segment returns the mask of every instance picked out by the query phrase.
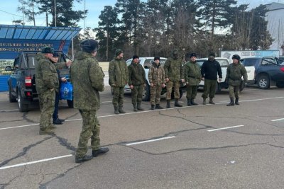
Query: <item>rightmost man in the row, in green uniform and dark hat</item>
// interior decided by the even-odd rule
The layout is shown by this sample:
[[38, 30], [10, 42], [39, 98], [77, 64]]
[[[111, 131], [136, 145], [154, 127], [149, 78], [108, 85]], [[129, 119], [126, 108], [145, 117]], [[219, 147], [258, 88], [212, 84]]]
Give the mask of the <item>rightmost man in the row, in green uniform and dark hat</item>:
[[[241, 84], [241, 77], [244, 77], [244, 83], [248, 80], [245, 67], [239, 62], [241, 57], [233, 55], [231, 57], [233, 63], [226, 69], [226, 84], [229, 84], [230, 103], [227, 106], [239, 105], [239, 86]], [[236, 101], [234, 102], [234, 97]]]

